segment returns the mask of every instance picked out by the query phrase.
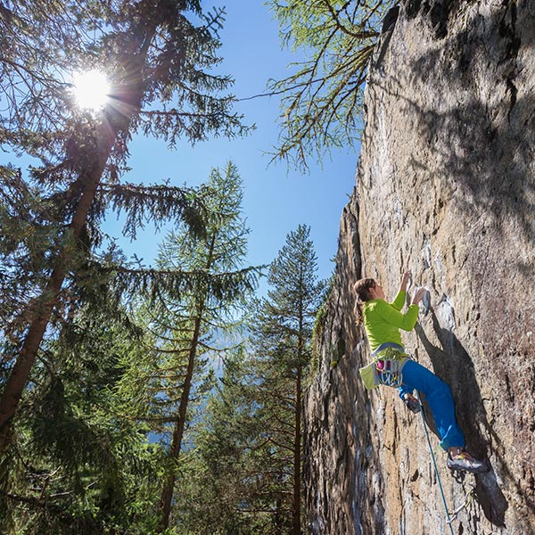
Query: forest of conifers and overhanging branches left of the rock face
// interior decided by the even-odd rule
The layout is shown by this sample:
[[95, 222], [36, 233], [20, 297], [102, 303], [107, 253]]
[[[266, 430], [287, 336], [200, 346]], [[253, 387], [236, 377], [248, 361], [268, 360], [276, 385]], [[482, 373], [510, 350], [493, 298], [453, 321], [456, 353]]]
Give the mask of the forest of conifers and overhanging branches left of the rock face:
[[[310, 52], [267, 89], [284, 95], [275, 158], [307, 169], [358, 139], [392, 3], [268, 4], [281, 45]], [[250, 266], [232, 161], [200, 186], [124, 179], [136, 134], [247, 136], [214, 71], [224, 19], [197, 0], [0, 1], [3, 533], [307, 531], [302, 396], [329, 292], [309, 226]], [[106, 98], [72, 72], [105, 74]], [[133, 243], [170, 225], [153, 265], [111, 215]]]

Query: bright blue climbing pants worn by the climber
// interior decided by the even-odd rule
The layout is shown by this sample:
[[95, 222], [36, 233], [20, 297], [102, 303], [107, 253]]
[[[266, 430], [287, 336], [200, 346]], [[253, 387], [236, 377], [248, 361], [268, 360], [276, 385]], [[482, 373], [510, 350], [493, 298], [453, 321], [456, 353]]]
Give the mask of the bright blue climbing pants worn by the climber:
[[424, 394], [431, 409], [442, 449], [463, 448], [465, 436], [455, 419], [455, 406], [449, 385], [414, 360], [407, 360], [402, 368], [403, 383], [399, 387], [399, 397], [418, 391]]

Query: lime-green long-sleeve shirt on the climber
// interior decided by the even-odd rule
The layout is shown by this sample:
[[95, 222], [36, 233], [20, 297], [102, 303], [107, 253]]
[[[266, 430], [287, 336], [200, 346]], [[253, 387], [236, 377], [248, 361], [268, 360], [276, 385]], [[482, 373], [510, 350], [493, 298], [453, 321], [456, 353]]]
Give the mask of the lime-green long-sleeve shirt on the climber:
[[407, 292], [399, 292], [392, 303], [382, 299], [374, 299], [366, 302], [364, 307], [364, 326], [368, 342], [372, 351], [376, 350], [384, 342], [393, 342], [402, 345], [401, 333], [412, 331], [418, 319], [418, 305], [410, 305], [405, 314], [401, 313], [405, 305]]

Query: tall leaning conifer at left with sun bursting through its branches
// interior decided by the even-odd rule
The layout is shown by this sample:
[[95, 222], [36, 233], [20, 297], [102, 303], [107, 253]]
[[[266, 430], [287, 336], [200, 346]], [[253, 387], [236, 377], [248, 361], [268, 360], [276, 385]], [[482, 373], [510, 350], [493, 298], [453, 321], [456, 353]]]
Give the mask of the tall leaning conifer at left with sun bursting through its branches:
[[[107, 210], [127, 213], [125, 234], [146, 222], [185, 219], [202, 235], [202, 205], [191, 190], [121, 184], [136, 132], [169, 144], [185, 136], [241, 135], [230, 78], [217, 65], [223, 12], [197, 0], [113, 3], [21, 0], [0, 5], [0, 143], [37, 159], [29, 179], [0, 169], [5, 261], [0, 280], [8, 350], [0, 398], [0, 455], [45, 338], [57, 336], [84, 284], [95, 277], [117, 292], [134, 286], [183, 287], [202, 273], [157, 273], [117, 262], [103, 245]], [[67, 81], [97, 68], [111, 78], [111, 103], [77, 110]], [[158, 107], [160, 104], [160, 107]]]

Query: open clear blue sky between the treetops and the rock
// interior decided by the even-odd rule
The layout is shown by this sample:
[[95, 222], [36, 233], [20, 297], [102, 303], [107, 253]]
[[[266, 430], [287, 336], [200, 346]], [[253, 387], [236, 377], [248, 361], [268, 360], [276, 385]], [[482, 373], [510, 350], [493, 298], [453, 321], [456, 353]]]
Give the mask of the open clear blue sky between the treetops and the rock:
[[[235, 78], [232, 92], [236, 97], [265, 93], [269, 78], [284, 78], [291, 72], [287, 65], [298, 58], [281, 50], [277, 22], [266, 5], [259, 0], [216, 0], [203, 5], [204, 9], [226, 6], [226, 23], [219, 34], [224, 61], [218, 71]], [[126, 179], [145, 184], [169, 179], [172, 185], [193, 186], [205, 181], [210, 169], [234, 161], [243, 178], [243, 212], [251, 228], [248, 262], [270, 263], [286, 235], [305, 224], [311, 227], [318, 275], [330, 276], [342, 209], [354, 185], [356, 150], [333, 152], [332, 161], [327, 158], [323, 169], [312, 165], [308, 175], [287, 169], [284, 162], [269, 165], [266, 152], [276, 145], [278, 136], [278, 97], [246, 100], [238, 103], [236, 111], [243, 113], [246, 124], [257, 126], [243, 139], [219, 138], [193, 148], [179, 144], [169, 151], [164, 142], [136, 137], [130, 144], [132, 171]], [[114, 235], [119, 232], [114, 231]], [[136, 253], [150, 263], [163, 236], [148, 230], [136, 243], [119, 243], [128, 255]]]

